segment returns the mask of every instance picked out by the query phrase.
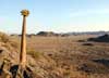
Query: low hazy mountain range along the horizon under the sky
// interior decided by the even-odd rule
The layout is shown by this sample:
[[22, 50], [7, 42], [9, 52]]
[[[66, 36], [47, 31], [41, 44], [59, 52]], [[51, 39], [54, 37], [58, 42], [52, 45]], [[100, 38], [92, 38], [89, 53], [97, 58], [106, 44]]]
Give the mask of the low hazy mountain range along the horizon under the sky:
[[[52, 37], [52, 36], [60, 36], [60, 37], [66, 37], [66, 36], [77, 36], [77, 35], [97, 35], [97, 36], [101, 36], [101, 35], [106, 35], [109, 34], [109, 31], [82, 31], [82, 32], [53, 32], [53, 31], [39, 31], [37, 34], [27, 34], [27, 37], [32, 37], [32, 36], [45, 36], [45, 37]], [[21, 35], [16, 35], [16, 34], [12, 34], [11, 36], [20, 36]]]

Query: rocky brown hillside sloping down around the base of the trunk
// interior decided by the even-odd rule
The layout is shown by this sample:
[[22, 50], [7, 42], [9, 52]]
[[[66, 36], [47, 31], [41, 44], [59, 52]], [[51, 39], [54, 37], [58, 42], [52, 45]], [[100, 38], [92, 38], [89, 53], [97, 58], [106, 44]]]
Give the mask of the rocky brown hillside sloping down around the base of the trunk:
[[[33, 56], [34, 55], [34, 56]], [[19, 47], [5, 34], [0, 32], [0, 78], [15, 78], [19, 66]], [[35, 60], [37, 57], [37, 60]], [[27, 55], [27, 73], [24, 78], [45, 78], [49, 77], [49, 68], [53, 67], [55, 62], [48, 56], [29, 51]], [[52, 74], [52, 73], [51, 73]], [[53, 75], [53, 74], [52, 74]]]

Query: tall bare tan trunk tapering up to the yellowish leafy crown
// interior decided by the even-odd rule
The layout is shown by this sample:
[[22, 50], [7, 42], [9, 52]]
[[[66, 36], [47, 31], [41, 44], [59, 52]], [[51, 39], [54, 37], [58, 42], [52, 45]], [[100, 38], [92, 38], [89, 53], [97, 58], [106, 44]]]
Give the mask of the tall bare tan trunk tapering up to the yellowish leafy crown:
[[17, 74], [21, 75], [21, 78], [23, 78], [25, 68], [26, 68], [26, 16], [24, 15], [23, 16], [22, 39], [21, 39], [20, 65], [17, 69]]

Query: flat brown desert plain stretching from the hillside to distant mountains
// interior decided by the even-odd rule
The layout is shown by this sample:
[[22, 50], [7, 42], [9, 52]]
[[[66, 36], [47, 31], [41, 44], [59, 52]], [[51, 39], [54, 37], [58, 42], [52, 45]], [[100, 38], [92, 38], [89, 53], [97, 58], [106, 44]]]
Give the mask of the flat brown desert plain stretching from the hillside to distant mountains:
[[27, 54], [47, 72], [39, 78], [109, 78], [109, 43], [86, 41], [92, 37], [27, 37]]

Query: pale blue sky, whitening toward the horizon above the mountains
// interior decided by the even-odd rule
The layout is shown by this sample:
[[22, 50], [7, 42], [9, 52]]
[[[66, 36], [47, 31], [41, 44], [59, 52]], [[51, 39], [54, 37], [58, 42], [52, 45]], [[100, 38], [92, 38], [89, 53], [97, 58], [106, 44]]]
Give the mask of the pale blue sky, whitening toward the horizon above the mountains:
[[0, 31], [21, 34], [27, 9], [27, 34], [109, 30], [109, 0], [0, 0]]

